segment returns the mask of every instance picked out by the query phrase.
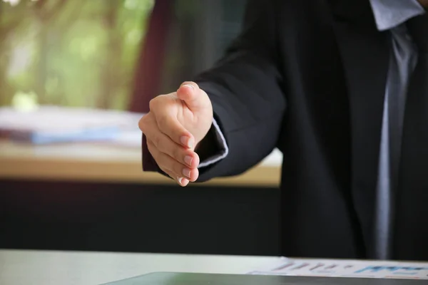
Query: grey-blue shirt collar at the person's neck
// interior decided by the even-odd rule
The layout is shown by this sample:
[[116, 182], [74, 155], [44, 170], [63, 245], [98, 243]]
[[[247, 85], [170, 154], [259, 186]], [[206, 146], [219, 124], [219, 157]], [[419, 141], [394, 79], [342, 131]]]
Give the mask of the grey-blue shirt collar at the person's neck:
[[395, 28], [414, 16], [425, 13], [424, 7], [417, 0], [370, 0], [370, 4], [379, 31]]

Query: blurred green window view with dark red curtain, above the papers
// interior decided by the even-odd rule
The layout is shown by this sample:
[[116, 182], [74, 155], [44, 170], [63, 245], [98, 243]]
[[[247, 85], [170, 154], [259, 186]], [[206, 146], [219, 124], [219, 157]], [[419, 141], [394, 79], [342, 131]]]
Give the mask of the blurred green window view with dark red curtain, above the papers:
[[141, 110], [208, 68], [245, 0], [0, 0], [0, 103]]

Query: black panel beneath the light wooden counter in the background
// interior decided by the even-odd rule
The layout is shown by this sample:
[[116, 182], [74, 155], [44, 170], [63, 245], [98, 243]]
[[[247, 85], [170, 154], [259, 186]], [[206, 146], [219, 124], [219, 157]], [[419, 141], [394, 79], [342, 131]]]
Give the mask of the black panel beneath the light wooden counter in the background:
[[279, 190], [0, 180], [0, 247], [279, 254]]

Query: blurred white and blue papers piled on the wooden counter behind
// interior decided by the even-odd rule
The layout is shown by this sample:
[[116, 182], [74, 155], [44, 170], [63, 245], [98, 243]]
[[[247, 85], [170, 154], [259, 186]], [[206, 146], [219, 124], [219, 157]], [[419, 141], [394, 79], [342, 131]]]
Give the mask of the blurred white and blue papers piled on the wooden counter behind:
[[116, 110], [44, 106], [28, 112], [0, 108], [0, 134], [11, 140], [49, 142], [116, 140], [138, 134], [143, 114]]

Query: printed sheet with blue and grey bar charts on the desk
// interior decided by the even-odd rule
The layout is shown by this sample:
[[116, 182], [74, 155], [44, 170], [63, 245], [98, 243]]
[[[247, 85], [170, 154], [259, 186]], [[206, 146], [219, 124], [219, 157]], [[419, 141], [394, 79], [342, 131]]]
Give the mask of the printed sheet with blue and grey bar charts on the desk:
[[428, 279], [428, 262], [281, 258], [248, 274]]

